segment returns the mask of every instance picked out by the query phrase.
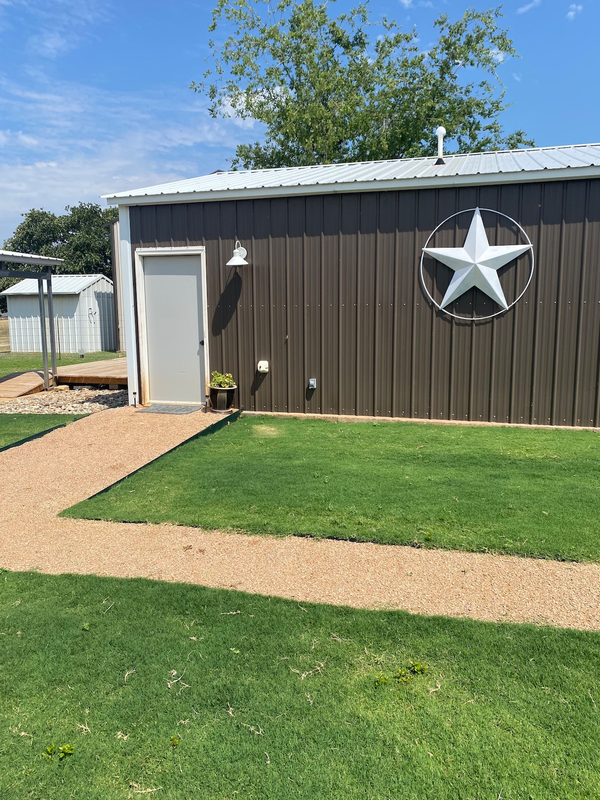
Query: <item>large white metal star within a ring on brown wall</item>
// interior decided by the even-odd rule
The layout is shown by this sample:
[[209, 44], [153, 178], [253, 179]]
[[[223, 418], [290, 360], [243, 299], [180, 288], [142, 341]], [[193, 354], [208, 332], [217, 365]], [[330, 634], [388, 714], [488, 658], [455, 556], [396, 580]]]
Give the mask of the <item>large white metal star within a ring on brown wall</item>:
[[[522, 295], [525, 294], [527, 286], [529, 286], [531, 277], [534, 272], [534, 258], [533, 258], [533, 248], [531, 246], [531, 242], [525, 231], [522, 229], [518, 222], [515, 222], [514, 219], [507, 217], [506, 214], [502, 214], [500, 211], [494, 211], [494, 214], [499, 214], [501, 217], [505, 217], [513, 222], [515, 226], [517, 226], [518, 230], [521, 231], [523, 238], [525, 238], [527, 244], [524, 245], [502, 245], [502, 246], [492, 246], [490, 242], [488, 242], [486, 229], [483, 226], [482, 215], [478, 208], [475, 209], [468, 209], [470, 211], [474, 211], [473, 219], [471, 220], [471, 224], [469, 227], [469, 232], [466, 234], [465, 244], [462, 247], [428, 247], [431, 238], [433, 238], [435, 232], [445, 223], [448, 219], [457, 216], [457, 214], [452, 214], [448, 219], [445, 219], [444, 222], [441, 222], [440, 225], [433, 231], [430, 238], [426, 242], [426, 246], [423, 247], [423, 254], [427, 254], [433, 256], [433, 258], [437, 258], [439, 262], [442, 264], [446, 264], [446, 266], [450, 267], [450, 270], [454, 270], [454, 275], [452, 276], [452, 280], [450, 281], [450, 286], [448, 286], [446, 290], [446, 294], [442, 299], [441, 303], [437, 303], [434, 301], [434, 298], [431, 297], [430, 292], [427, 290], [425, 282], [423, 280], [423, 254], [421, 256], [421, 280], [423, 288], [426, 291], [426, 294], [430, 298], [431, 302], [434, 303], [434, 306], [437, 306], [440, 310], [446, 310], [446, 307], [450, 305], [450, 303], [454, 302], [454, 300], [458, 299], [462, 294], [466, 291], [477, 288], [485, 292], [488, 297], [492, 298], [495, 302], [498, 303], [500, 306], [499, 311], [495, 314], [490, 314], [487, 317], [475, 317], [475, 319], [489, 319], [490, 317], [495, 317], [497, 314], [502, 314], [502, 311], [508, 310], [511, 306], [514, 306], [514, 303], [517, 302]], [[491, 209], [483, 209], [484, 211], [491, 211]], [[459, 214], [463, 214], [464, 212], [458, 212]], [[514, 261], [515, 258], [518, 256], [530, 251], [531, 257], [531, 270], [530, 270], [530, 277], [527, 281], [527, 286], [519, 294], [518, 298], [514, 300], [509, 306], [506, 302], [506, 297], [504, 296], [504, 292], [502, 290], [502, 286], [500, 285], [500, 281], [498, 279], [498, 270], [500, 267], [509, 264], [511, 261]], [[449, 311], [446, 310], [446, 314], [450, 314]], [[471, 317], [459, 317], [458, 314], [450, 314], [452, 317], [456, 317], [459, 319], [472, 319]]]

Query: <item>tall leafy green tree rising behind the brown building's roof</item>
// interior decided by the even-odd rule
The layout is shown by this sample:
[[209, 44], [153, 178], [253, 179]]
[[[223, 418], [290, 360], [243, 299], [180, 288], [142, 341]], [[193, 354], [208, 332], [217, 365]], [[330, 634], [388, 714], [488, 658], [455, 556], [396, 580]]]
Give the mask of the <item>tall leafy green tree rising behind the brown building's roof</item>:
[[228, 35], [210, 41], [210, 66], [190, 88], [206, 94], [214, 118], [265, 126], [263, 142], [238, 145], [234, 167], [433, 155], [438, 125], [460, 153], [534, 144], [500, 122], [508, 104], [498, 69], [518, 57], [501, 6], [457, 22], [441, 14], [437, 42], [423, 50], [416, 29], [372, 24], [368, 3], [337, 18], [330, 5], [218, 0], [210, 31]]

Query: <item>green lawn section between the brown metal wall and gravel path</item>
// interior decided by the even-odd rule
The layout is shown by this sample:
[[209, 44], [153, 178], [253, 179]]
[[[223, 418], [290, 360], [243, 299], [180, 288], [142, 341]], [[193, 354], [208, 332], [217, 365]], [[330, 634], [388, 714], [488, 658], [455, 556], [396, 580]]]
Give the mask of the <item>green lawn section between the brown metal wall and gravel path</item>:
[[243, 418], [63, 512], [600, 559], [590, 431]]

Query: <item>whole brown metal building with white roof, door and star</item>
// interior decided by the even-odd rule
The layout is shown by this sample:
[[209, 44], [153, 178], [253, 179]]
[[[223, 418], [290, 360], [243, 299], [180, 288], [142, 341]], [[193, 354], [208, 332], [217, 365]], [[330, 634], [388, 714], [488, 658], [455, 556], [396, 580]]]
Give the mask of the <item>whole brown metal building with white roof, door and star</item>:
[[204, 402], [216, 369], [247, 410], [600, 425], [600, 145], [107, 199], [132, 403]]

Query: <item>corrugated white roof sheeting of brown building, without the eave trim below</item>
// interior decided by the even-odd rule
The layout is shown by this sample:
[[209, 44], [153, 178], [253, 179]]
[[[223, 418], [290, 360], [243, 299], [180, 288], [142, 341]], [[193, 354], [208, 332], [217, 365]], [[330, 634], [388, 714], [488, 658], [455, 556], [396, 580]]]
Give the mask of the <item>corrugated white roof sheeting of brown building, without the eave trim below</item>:
[[[319, 164], [316, 166], [291, 166], [270, 170], [239, 170], [202, 175], [184, 181], [146, 186], [106, 198], [118, 202], [125, 198], [164, 197], [177, 194], [195, 194], [198, 199], [210, 199], [210, 194], [238, 190], [282, 190], [296, 186], [343, 186], [360, 182], [410, 180], [415, 178], [444, 178], [451, 176], [477, 176], [494, 174], [520, 174], [538, 170], [566, 170], [572, 167], [600, 166], [600, 144], [570, 145], [562, 147], [537, 147], [525, 150], [506, 150], [494, 153], [467, 153], [446, 155], [445, 164], [436, 166], [436, 158], [399, 158], [390, 161], [358, 162], [351, 164]], [[557, 174], [557, 179], [560, 176]], [[402, 188], [401, 184], [398, 188]], [[337, 190], [337, 189], [336, 189]]]

